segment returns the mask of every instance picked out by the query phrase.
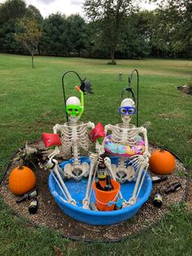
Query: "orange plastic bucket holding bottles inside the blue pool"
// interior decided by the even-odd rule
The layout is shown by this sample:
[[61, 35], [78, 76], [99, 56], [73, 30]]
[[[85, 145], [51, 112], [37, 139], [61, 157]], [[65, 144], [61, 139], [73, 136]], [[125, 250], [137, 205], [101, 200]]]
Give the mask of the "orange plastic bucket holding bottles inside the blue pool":
[[95, 199], [96, 199], [96, 205], [98, 207], [98, 210], [114, 210], [115, 204], [108, 206], [108, 203], [110, 201], [116, 201], [116, 196], [118, 192], [120, 191], [120, 183], [118, 183], [116, 180], [111, 179], [111, 183], [113, 186], [112, 191], [103, 191], [98, 188], [96, 188], [96, 183], [94, 182], [93, 188], [95, 193]]

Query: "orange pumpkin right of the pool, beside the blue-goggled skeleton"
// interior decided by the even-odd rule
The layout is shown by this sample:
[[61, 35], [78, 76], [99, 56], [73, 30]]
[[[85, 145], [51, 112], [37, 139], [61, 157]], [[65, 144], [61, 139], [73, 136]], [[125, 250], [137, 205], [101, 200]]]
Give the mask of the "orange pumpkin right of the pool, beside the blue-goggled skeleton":
[[152, 152], [149, 162], [150, 169], [155, 174], [167, 175], [175, 169], [175, 157], [164, 149], [156, 149]]

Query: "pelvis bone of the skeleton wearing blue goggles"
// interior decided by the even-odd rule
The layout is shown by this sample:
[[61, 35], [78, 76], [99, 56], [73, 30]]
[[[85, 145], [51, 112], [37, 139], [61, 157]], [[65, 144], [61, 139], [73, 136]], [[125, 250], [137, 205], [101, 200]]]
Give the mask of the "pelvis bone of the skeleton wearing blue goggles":
[[111, 168], [114, 171], [114, 174], [116, 174], [116, 180], [120, 183], [135, 179], [136, 173], [133, 166], [124, 167], [111, 165]]

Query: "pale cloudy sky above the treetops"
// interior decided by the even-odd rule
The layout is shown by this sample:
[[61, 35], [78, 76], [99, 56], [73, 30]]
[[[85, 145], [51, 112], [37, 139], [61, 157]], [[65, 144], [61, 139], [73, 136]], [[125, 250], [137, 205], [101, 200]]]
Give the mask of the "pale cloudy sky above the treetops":
[[[0, 3], [1, 2], [6, 2], [6, 0], [0, 0]], [[84, 16], [82, 10], [82, 3], [84, 0], [25, 0], [25, 2], [27, 5], [32, 4], [34, 7], [37, 7], [44, 18], [58, 11], [65, 15], [79, 13]], [[155, 9], [155, 4], [146, 4], [143, 0], [141, 7], [142, 9], [153, 10]]]

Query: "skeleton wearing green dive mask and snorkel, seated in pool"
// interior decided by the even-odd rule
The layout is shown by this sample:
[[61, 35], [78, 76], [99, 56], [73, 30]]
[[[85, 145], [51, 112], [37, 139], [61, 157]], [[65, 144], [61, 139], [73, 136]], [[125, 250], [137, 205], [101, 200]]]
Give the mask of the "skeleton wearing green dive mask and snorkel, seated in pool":
[[66, 101], [66, 112], [68, 113], [69, 122], [63, 125], [56, 124], [53, 127], [54, 133], [59, 132], [61, 135], [63, 155], [67, 156], [72, 153], [72, 164], [66, 164], [63, 170], [61, 170], [58, 162], [54, 159], [55, 155], [59, 154], [58, 146], [56, 146], [54, 152], [50, 154], [48, 157], [49, 161], [46, 164], [46, 168], [54, 168], [56, 175], [53, 175], [53, 177], [56, 183], [60, 183], [59, 188], [62, 188], [63, 195], [66, 197], [67, 201], [73, 205], [76, 205], [76, 201], [72, 199], [72, 196], [68, 192], [68, 188], [63, 182], [63, 177], [80, 180], [82, 177], [86, 177], [89, 174], [89, 164], [86, 161], [80, 161], [79, 148], [88, 151], [88, 130], [89, 128], [94, 128], [94, 123], [90, 121], [88, 123], [78, 122], [84, 110], [84, 94], [78, 86], [76, 86], [76, 90], [81, 92], [81, 102], [80, 99], [75, 96], [69, 97]]

